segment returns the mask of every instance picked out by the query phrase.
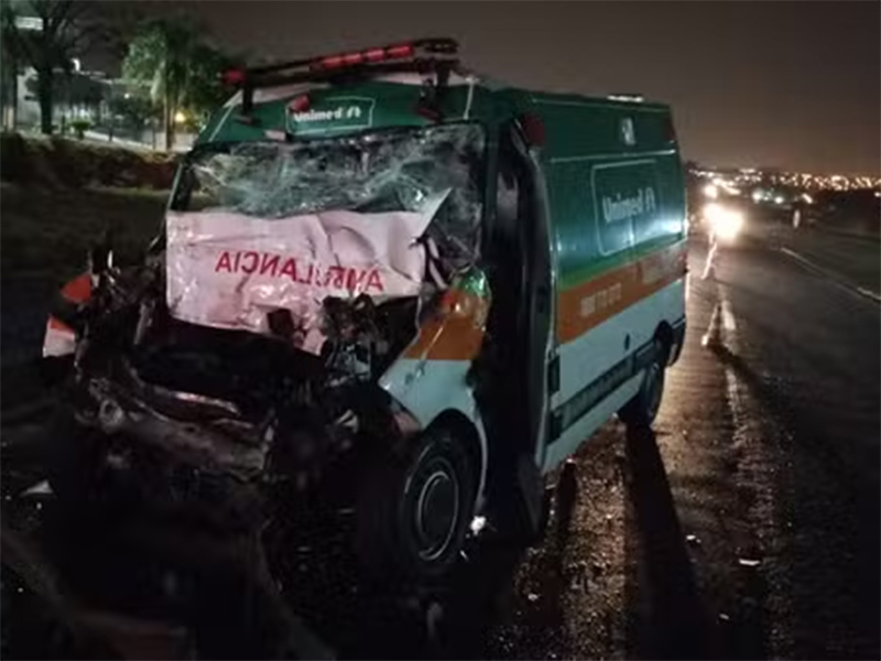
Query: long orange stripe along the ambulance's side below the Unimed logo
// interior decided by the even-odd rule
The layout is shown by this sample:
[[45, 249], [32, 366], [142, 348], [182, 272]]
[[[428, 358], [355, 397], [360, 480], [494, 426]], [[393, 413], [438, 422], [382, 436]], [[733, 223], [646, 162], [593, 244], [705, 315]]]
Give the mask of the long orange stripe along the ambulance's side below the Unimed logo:
[[639, 261], [607, 271], [557, 296], [557, 340], [572, 342], [590, 328], [685, 275], [682, 241]]

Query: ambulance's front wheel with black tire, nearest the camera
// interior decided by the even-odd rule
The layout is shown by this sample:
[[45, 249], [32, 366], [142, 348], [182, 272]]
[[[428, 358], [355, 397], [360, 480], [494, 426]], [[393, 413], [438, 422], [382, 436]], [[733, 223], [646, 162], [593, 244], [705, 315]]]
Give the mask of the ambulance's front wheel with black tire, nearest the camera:
[[477, 467], [444, 426], [373, 457], [356, 506], [356, 553], [373, 577], [428, 581], [456, 564], [474, 517]]

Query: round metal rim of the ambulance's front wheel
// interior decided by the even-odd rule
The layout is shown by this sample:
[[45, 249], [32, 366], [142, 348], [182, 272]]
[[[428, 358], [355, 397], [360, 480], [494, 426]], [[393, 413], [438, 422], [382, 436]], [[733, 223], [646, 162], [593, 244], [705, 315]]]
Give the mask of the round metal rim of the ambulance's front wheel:
[[452, 464], [437, 457], [420, 472], [427, 477], [418, 483], [413, 510], [418, 556], [434, 561], [449, 549], [459, 523], [460, 485]]

